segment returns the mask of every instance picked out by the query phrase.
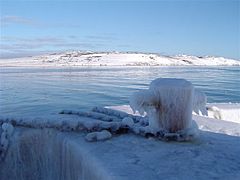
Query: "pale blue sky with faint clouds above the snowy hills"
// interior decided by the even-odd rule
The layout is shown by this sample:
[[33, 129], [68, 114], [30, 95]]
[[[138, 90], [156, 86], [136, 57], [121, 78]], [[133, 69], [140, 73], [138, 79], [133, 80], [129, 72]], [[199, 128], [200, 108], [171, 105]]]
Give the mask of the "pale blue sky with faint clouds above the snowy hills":
[[0, 0], [0, 56], [64, 50], [240, 59], [240, 1]]

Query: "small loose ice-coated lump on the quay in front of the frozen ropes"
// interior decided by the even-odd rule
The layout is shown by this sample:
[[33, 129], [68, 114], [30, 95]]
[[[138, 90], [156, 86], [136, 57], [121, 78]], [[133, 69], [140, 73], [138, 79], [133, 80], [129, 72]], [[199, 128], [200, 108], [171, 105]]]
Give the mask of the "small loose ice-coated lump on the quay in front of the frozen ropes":
[[107, 139], [110, 139], [111, 137], [112, 137], [112, 134], [109, 131], [103, 130], [100, 132], [88, 133], [85, 139], [89, 142], [92, 142], [92, 141], [107, 140]]

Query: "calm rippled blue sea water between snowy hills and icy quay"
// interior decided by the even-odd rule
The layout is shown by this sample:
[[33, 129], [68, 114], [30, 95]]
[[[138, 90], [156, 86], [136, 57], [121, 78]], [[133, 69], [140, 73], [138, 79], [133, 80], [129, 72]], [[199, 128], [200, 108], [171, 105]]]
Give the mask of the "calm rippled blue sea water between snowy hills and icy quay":
[[208, 102], [240, 102], [239, 67], [1, 68], [0, 113], [41, 116], [127, 104], [159, 77], [191, 81]]

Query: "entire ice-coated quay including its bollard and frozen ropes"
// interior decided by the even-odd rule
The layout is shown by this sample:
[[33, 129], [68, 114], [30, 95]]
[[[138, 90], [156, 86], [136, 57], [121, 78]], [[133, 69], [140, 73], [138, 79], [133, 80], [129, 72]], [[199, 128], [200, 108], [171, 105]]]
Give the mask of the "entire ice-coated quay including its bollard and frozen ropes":
[[[123, 105], [43, 118], [0, 117], [0, 179], [238, 180], [240, 119], [228, 113], [238, 114], [239, 106], [208, 104], [210, 118], [203, 116], [205, 103], [191, 83], [157, 79], [131, 100], [134, 110], [148, 116]], [[185, 130], [196, 127], [199, 136], [178, 142], [195, 135]]]

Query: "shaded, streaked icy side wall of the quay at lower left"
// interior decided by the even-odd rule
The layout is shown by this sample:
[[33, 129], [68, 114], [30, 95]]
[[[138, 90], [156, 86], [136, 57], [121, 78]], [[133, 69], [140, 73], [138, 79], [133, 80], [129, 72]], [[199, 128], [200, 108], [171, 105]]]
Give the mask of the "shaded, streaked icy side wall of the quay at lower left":
[[73, 137], [53, 129], [17, 128], [0, 162], [0, 179], [112, 179], [89, 149], [79, 145], [81, 135], [79, 140]]

